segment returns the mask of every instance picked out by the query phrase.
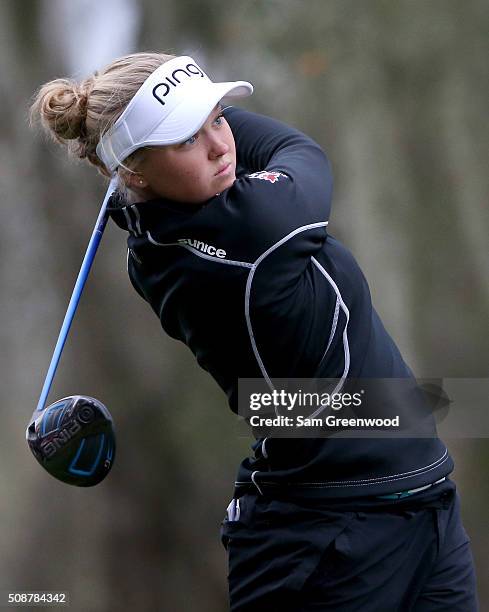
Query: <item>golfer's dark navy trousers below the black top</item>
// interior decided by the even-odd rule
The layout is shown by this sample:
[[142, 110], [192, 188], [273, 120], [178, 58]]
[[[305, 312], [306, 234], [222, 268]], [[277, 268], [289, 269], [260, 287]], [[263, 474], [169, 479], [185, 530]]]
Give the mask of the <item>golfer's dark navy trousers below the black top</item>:
[[421, 507], [409, 500], [362, 511], [246, 494], [239, 519], [226, 518], [221, 529], [230, 610], [476, 612], [470, 542], [452, 486]]

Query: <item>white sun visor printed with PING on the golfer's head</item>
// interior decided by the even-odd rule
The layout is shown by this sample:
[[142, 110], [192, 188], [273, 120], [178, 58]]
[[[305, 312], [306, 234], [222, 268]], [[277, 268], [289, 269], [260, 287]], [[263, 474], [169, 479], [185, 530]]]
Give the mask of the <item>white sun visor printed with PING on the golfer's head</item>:
[[191, 57], [176, 57], [144, 81], [100, 139], [97, 155], [114, 172], [136, 149], [185, 142], [200, 130], [222, 98], [252, 93], [251, 83], [213, 83]]

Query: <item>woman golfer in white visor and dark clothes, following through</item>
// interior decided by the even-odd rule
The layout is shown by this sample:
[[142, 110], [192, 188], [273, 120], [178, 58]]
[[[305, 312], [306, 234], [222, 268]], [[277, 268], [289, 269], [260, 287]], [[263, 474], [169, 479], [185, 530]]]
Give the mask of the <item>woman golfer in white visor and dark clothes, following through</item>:
[[[255, 389], [256, 414], [272, 402], [278, 417], [291, 405], [276, 379], [333, 379], [336, 396], [353, 379], [412, 381], [328, 231], [325, 154], [283, 123], [223, 107], [251, 93], [212, 82], [191, 57], [137, 53], [82, 83], [47, 83], [32, 112], [78, 157], [118, 173], [109, 210], [129, 234], [131, 282], [232, 410], [238, 379], [261, 379], [269, 393]], [[231, 610], [477, 609], [453, 461], [434, 430], [268, 431], [253, 451], [222, 525]]]

